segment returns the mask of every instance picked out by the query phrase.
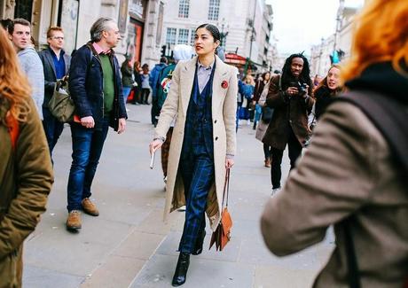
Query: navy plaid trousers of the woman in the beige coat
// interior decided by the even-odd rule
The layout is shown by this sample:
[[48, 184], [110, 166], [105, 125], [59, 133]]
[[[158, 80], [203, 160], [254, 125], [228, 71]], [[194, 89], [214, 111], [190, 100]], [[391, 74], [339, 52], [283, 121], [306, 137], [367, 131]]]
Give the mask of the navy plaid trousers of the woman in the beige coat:
[[180, 162], [186, 200], [183, 236], [178, 246], [182, 253], [192, 253], [206, 227], [207, 196], [215, 175], [214, 160], [209, 157], [205, 144], [195, 148], [190, 157]]

